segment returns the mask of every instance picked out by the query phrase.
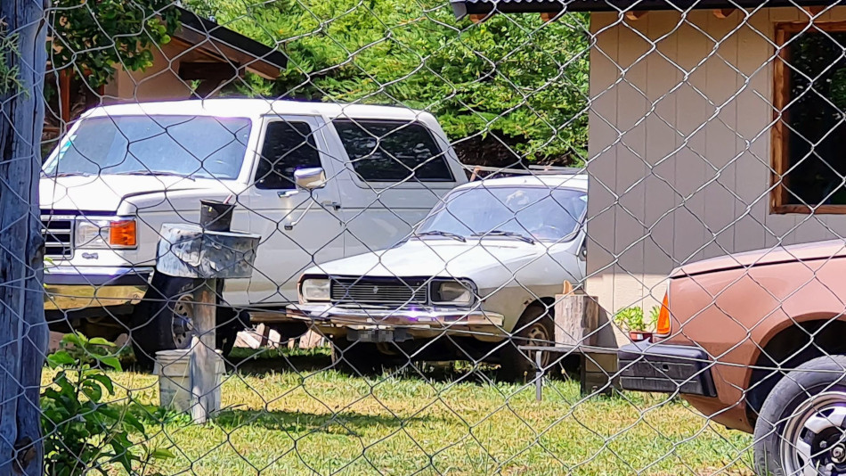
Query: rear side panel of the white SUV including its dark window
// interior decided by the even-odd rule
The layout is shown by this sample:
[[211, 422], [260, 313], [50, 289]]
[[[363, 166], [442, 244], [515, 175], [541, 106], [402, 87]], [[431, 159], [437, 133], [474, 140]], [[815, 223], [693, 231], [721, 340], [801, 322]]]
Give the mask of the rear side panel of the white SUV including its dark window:
[[[418, 121], [336, 119], [330, 143], [346, 154], [338, 171], [346, 256], [402, 240], [443, 195], [467, 182], [442, 135]], [[433, 125], [436, 127], [436, 124]]]

